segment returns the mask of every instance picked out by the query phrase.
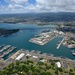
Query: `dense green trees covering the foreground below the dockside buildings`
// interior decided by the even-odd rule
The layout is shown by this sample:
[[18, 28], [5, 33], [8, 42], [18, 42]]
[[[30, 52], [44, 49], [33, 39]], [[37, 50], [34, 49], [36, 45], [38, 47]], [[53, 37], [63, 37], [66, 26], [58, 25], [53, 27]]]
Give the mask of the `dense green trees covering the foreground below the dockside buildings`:
[[[41, 58], [42, 59], [42, 58]], [[75, 75], [75, 70], [71, 68], [69, 72], [63, 68], [58, 68], [54, 60], [47, 62], [16, 61], [0, 71], [0, 75], [58, 75], [58, 73], [69, 73]]]

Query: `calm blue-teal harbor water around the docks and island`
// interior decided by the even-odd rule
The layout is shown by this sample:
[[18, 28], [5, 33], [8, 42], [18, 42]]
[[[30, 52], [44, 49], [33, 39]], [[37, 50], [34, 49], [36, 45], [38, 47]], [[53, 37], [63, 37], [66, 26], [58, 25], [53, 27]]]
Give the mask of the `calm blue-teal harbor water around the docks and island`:
[[[10, 44], [12, 46], [16, 46], [17, 49], [14, 51], [24, 48], [28, 50], [40, 50], [41, 52], [52, 53], [54, 56], [65, 56], [70, 59], [75, 59], [75, 57], [71, 54], [72, 49], [68, 49], [64, 46], [61, 46], [58, 50], [56, 49], [56, 44], [61, 38], [57, 37], [54, 40], [48, 42], [44, 46], [40, 46], [34, 43], [30, 43], [29, 39], [34, 37], [34, 35], [39, 34], [42, 30], [45, 29], [54, 29], [54, 25], [47, 25], [47, 26], [37, 26], [31, 24], [0, 24], [0, 28], [6, 29], [21, 29], [19, 32], [12, 34], [8, 37], [0, 37], [0, 44]], [[5, 59], [8, 56], [5, 57]]]

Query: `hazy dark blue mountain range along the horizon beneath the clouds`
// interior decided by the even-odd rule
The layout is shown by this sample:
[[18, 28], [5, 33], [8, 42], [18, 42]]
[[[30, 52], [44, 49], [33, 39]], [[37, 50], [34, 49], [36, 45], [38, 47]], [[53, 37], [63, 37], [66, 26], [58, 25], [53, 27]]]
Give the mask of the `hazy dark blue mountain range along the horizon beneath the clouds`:
[[2, 14], [0, 21], [7, 18], [16, 18], [20, 21], [40, 20], [42, 22], [62, 22], [75, 21], [75, 13], [58, 12], [58, 13], [27, 13], [27, 14]]

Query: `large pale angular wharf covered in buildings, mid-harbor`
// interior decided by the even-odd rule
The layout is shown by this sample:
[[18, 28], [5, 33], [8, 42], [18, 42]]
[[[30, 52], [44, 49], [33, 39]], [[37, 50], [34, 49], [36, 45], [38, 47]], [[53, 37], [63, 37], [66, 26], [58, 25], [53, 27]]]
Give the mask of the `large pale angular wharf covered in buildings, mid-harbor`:
[[48, 43], [49, 41], [53, 40], [54, 38], [56, 38], [58, 35], [56, 35], [53, 32], [49, 32], [49, 33], [42, 33], [39, 34], [39, 37], [34, 37], [31, 38], [29, 40], [29, 42], [38, 44], [38, 45], [45, 45], [46, 43]]

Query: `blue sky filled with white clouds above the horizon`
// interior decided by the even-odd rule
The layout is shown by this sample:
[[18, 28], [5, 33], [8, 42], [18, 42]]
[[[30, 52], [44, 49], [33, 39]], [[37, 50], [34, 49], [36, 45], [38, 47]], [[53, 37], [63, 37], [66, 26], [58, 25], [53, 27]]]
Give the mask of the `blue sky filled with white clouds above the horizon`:
[[0, 0], [0, 14], [75, 12], [75, 0]]

